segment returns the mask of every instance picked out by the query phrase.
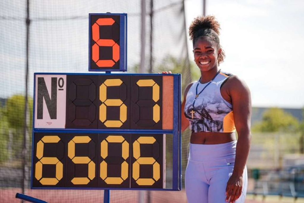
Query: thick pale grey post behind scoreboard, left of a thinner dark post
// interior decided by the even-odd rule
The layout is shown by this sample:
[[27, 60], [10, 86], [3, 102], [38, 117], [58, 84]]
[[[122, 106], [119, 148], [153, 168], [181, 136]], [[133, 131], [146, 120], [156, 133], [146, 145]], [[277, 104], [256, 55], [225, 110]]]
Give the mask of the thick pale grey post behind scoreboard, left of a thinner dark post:
[[146, 48], [146, 0], [141, 0], [141, 29], [140, 29], [140, 67], [139, 72], [146, 72], [145, 69], [145, 48]]

